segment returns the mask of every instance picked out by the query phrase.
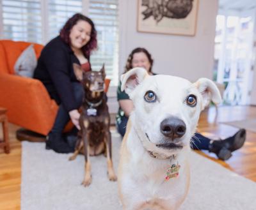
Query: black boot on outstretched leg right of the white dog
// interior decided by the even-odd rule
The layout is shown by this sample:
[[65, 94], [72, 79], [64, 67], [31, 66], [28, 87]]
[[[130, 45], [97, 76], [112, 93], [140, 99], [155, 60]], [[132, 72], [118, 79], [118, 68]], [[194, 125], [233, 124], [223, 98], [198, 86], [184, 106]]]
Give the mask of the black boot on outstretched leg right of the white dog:
[[240, 129], [232, 137], [224, 140], [212, 140], [209, 144], [209, 152], [217, 154], [221, 160], [228, 160], [232, 152], [240, 149], [246, 138], [246, 130]]

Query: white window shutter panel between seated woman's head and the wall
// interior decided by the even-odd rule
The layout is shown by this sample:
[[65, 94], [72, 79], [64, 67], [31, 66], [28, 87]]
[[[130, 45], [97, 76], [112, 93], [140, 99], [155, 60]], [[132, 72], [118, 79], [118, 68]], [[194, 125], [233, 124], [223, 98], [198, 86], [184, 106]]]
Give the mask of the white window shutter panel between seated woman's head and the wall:
[[118, 0], [90, 0], [88, 16], [97, 29], [98, 50], [90, 61], [93, 70], [105, 64], [111, 86], [118, 84]]

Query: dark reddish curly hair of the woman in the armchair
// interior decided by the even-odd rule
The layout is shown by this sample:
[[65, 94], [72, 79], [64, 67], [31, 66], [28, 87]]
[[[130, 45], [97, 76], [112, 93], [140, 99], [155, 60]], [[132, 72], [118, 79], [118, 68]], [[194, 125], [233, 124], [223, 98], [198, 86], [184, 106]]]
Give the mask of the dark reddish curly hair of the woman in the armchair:
[[88, 41], [88, 43], [86, 43], [86, 45], [84, 45], [81, 49], [84, 56], [88, 58], [90, 57], [90, 53], [92, 52], [92, 50], [97, 49], [97, 31], [91, 19], [80, 13], [76, 13], [75, 15], [70, 17], [70, 19], [68, 19], [65, 25], [62, 27], [62, 29], [60, 30], [60, 37], [63, 41], [65, 41], [65, 43], [70, 45], [70, 31], [79, 20], [85, 20], [86, 22], [88, 22], [88, 24], [92, 26], [90, 41]]

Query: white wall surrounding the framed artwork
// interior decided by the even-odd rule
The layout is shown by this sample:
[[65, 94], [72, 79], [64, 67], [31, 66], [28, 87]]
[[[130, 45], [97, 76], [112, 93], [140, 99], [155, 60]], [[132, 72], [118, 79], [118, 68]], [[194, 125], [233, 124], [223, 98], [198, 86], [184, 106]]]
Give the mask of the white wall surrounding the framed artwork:
[[137, 1], [123, 0], [120, 10], [120, 73], [135, 47], [145, 47], [154, 58], [153, 71], [196, 80], [212, 79], [218, 0], [200, 0], [195, 36], [139, 33]]

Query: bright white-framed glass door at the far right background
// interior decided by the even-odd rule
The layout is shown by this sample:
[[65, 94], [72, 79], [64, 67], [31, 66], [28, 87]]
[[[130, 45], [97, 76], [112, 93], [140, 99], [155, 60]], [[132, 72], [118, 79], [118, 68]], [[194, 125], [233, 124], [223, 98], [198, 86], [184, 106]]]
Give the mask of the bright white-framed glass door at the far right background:
[[225, 84], [223, 103], [246, 105], [250, 101], [255, 12], [218, 15], [214, 51], [214, 76]]

